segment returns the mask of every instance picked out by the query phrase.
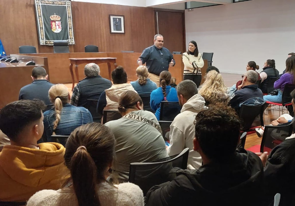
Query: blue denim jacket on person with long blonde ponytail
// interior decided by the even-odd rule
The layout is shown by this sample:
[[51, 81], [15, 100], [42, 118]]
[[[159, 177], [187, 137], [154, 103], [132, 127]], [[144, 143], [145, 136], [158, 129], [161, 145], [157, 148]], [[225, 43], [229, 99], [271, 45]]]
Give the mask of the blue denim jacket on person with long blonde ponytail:
[[[53, 133], [53, 122], [55, 121], [55, 109], [50, 109], [44, 112], [44, 136], [47, 137], [47, 142], [51, 142], [51, 135]], [[76, 107], [71, 104], [63, 105], [60, 113], [60, 122], [56, 128], [55, 134], [57, 135], [70, 135], [74, 129], [93, 122], [92, 116], [88, 109], [84, 107]], [[63, 144], [64, 142], [60, 142]]]

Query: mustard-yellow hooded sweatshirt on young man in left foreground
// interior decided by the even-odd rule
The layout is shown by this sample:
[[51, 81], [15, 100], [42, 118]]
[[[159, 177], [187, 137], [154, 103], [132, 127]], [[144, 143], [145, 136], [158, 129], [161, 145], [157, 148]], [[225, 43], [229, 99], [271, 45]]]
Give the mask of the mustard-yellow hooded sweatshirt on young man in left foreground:
[[0, 152], [0, 201], [26, 202], [40, 190], [61, 188], [69, 177], [63, 145], [50, 142], [38, 147], [4, 146]]

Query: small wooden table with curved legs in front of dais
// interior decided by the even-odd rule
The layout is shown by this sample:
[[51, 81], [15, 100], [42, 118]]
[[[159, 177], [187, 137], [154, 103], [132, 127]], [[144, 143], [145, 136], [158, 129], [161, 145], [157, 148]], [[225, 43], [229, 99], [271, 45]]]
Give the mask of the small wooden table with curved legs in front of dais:
[[108, 70], [109, 70], [109, 80], [112, 79], [111, 77], [111, 63], [114, 64], [115, 68], [117, 67], [116, 64], [116, 59], [113, 57], [101, 57], [101, 58], [69, 58], [70, 59], [70, 72], [72, 76], [72, 91], [75, 86], [75, 77], [73, 73], [73, 64], [76, 65], [75, 67], [75, 73], [76, 73], [76, 78], [77, 78], [77, 83], [79, 83], [79, 73], [78, 73], [78, 65], [79, 64], [89, 64], [89, 63], [94, 63], [94, 64], [101, 64], [101, 63], [107, 63], [108, 64]]

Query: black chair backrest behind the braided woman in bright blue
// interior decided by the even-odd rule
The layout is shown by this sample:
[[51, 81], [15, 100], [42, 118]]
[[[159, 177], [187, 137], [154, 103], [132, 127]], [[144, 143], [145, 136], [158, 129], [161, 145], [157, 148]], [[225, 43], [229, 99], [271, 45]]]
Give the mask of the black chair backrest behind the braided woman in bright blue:
[[161, 102], [160, 106], [160, 120], [173, 121], [173, 119], [180, 113], [181, 107], [179, 102]]

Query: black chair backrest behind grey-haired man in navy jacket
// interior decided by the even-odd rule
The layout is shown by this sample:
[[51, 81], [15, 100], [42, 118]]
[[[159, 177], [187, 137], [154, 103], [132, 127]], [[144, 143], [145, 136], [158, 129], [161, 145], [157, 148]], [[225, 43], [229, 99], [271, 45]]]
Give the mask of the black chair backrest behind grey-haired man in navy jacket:
[[247, 130], [257, 126], [263, 126], [263, 111], [264, 101], [258, 105], [246, 105], [242, 104], [240, 108], [239, 117], [241, 119], [241, 130]]

